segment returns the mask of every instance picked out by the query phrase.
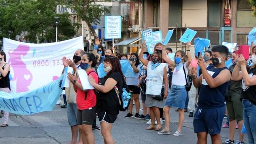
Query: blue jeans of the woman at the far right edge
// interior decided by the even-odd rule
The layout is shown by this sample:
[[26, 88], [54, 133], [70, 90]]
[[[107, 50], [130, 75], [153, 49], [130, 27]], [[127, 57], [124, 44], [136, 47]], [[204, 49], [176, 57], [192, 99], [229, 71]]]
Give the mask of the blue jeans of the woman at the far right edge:
[[244, 125], [248, 143], [256, 144], [256, 106], [249, 100], [242, 100]]

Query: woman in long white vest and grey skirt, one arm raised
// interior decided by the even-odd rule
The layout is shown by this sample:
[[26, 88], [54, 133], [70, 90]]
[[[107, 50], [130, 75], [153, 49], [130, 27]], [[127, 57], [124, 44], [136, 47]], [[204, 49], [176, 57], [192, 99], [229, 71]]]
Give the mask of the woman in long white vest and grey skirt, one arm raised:
[[[145, 42], [144, 42], [145, 44]], [[167, 70], [168, 65], [162, 62], [162, 56], [160, 52], [154, 52], [151, 55], [152, 62], [143, 59], [143, 52], [145, 46], [143, 44], [143, 48], [140, 51], [139, 59], [140, 61], [147, 66], [147, 78], [146, 78], [146, 107], [150, 108], [150, 119], [151, 125], [146, 128], [146, 130], [161, 130], [162, 125], [160, 123], [160, 111], [159, 108], [163, 108], [164, 100], [157, 100], [156, 96], [161, 95], [161, 90], [164, 84], [164, 98], [168, 95], [168, 78], [167, 78]], [[157, 121], [157, 126], [155, 126], [155, 118]]]

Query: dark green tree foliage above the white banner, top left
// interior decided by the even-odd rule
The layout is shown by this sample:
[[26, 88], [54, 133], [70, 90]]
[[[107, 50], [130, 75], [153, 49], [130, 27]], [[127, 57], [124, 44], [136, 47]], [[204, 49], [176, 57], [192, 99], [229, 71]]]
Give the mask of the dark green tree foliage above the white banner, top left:
[[55, 42], [55, 20], [60, 17], [58, 40], [70, 39], [76, 35], [80, 25], [71, 23], [69, 14], [56, 14], [60, 0], [0, 0], [0, 38], [15, 39], [22, 31], [23, 37], [31, 43]]

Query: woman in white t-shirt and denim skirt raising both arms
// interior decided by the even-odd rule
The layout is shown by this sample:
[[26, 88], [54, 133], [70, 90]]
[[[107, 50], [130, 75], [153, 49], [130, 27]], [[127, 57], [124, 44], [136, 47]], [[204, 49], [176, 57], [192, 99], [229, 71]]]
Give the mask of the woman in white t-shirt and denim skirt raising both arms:
[[178, 50], [175, 53], [175, 60], [166, 57], [165, 49], [162, 49], [162, 58], [165, 62], [174, 67], [174, 71], [172, 74], [172, 82], [171, 89], [167, 100], [164, 106], [164, 115], [165, 115], [165, 129], [158, 134], [171, 134], [169, 123], [170, 123], [170, 107], [178, 108], [179, 112], [179, 124], [177, 131], [173, 134], [173, 136], [181, 135], [181, 128], [184, 122], [184, 108], [185, 101], [187, 96], [186, 91], [186, 77], [188, 74], [188, 66], [191, 63], [191, 54], [190, 54], [190, 46], [191, 42], [186, 44], [187, 58], [186, 54], [183, 50]]

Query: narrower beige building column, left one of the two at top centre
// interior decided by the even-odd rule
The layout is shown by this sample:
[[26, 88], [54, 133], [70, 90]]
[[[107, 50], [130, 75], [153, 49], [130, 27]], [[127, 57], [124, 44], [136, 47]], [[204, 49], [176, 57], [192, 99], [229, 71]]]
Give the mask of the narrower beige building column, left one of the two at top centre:
[[144, 0], [144, 28], [153, 27], [154, 25], [154, 2], [153, 0]]

